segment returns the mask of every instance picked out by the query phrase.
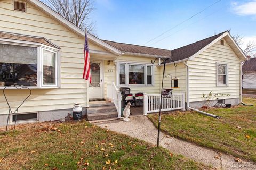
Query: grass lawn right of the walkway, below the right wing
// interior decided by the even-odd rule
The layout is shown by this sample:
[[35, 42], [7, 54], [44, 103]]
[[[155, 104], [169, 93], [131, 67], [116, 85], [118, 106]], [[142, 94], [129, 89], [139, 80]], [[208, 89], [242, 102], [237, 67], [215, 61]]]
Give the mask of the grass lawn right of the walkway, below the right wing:
[[[174, 137], [256, 162], [256, 100], [243, 99], [243, 102], [254, 106], [206, 110], [221, 116], [220, 120], [192, 111], [165, 114], [161, 130]], [[149, 118], [157, 126], [158, 115], [149, 115]]]

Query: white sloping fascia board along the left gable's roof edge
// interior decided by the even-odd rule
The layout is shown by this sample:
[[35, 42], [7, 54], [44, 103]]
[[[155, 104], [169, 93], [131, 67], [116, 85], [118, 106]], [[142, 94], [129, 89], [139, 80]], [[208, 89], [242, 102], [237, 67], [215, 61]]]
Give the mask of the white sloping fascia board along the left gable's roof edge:
[[[41, 8], [41, 10], [43, 10], [44, 12], [53, 16], [53, 18], [55, 18], [56, 20], [58, 20], [62, 24], [66, 25], [68, 28], [73, 30], [77, 35], [85, 37], [85, 31], [84, 30], [76, 27], [76, 25], [74, 25], [73, 23], [71, 23], [68, 20], [66, 20], [65, 18], [63, 18], [57, 12], [53, 11], [49, 6], [45, 5], [44, 3], [42, 3], [39, 0], [29, 0], [29, 2], [34, 4], [37, 7]], [[109, 49], [111, 52], [113, 52], [115, 54], [121, 54], [121, 51], [119, 51], [118, 49], [114, 48], [113, 46], [110, 46], [109, 44], [103, 42], [99, 38], [96, 38], [96, 37], [90, 35], [90, 33], [87, 33], [87, 36], [90, 40], [94, 41], [96, 44], [99, 44], [99, 45]]]

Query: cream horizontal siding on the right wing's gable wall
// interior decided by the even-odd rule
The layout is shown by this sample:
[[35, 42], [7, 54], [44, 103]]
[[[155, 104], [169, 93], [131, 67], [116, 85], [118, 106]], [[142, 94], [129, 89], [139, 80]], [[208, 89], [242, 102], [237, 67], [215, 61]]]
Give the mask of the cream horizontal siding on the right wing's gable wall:
[[[228, 65], [228, 86], [217, 86], [217, 64]], [[202, 94], [209, 92], [230, 94], [219, 99], [239, 98], [240, 62], [233, 49], [225, 41], [207, 48], [203, 53], [188, 61], [189, 65], [189, 101], [202, 101]]]

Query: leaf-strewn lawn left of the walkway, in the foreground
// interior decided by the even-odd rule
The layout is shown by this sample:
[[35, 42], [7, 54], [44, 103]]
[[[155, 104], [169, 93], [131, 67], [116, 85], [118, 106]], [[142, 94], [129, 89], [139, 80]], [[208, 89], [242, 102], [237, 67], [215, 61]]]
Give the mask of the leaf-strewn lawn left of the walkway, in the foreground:
[[[3, 129], [0, 129], [3, 131]], [[210, 169], [86, 121], [19, 125], [0, 135], [4, 169]]]

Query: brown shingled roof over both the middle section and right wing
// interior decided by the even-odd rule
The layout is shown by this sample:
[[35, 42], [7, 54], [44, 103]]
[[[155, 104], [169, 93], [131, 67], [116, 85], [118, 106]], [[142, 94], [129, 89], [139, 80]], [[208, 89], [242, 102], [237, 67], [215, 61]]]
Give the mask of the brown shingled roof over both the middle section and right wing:
[[146, 47], [146, 46], [139, 46], [139, 45], [133, 45], [133, 44], [125, 44], [125, 43], [117, 43], [114, 41], [107, 41], [107, 40], [102, 40], [102, 41], [117, 48], [118, 50], [121, 50], [122, 52], [150, 54], [150, 55], [156, 55], [156, 56], [167, 56], [167, 57], [171, 57], [172, 60], [174, 61], [178, 61], [178, 60], [183, 60], [193, 56], [199, 50], [201, 50], [202, 48], [210, 44], [213, 40], [217, 39], [225, 32], [221, 32], [218, 35], [205, 38], [203, 40], [197, 41], [196, 43], [192, 43], [174, 50]]

